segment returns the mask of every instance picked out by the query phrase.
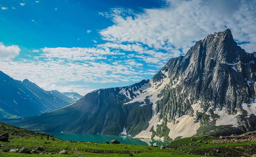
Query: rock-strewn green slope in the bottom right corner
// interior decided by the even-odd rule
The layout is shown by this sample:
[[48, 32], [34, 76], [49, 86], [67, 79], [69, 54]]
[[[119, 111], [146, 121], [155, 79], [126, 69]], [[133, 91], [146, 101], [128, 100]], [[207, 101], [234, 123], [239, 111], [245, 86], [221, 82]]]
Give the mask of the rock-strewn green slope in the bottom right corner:
[[189, 137], [173, 141], [168, 148], [205, 156], [251, 157], [256, 154], [256, 132], [239, 136]]

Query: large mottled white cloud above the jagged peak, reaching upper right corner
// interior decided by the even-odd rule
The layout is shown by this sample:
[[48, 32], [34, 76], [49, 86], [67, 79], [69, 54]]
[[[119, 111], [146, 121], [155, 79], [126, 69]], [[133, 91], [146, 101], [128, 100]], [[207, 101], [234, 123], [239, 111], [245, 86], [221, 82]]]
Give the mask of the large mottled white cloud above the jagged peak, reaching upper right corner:
[[[238, 42], [250, 42], [256, 47], [255, 0], [168, 0], [164, 8], [144, 9], [140, 14], [114, 9], [107, 16], [115, 24], [100, 31], [104, 40], [142, 43], [167, 50], [173, 56], [186, 53], [195, 41], [209, 33], [227, 28]], [[249, 46], [245, 48], [253, 51]]]

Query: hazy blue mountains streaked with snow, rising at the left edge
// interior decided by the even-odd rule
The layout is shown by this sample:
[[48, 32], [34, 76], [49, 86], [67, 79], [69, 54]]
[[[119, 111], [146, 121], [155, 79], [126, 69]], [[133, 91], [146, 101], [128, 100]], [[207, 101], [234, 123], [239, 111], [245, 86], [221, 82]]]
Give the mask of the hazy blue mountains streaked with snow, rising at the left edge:
[[27, 79], [14, 80], [1, 71], [0, 87], [0, 118], [31, 117], [74, 102], [60, 92], [53, 94]]

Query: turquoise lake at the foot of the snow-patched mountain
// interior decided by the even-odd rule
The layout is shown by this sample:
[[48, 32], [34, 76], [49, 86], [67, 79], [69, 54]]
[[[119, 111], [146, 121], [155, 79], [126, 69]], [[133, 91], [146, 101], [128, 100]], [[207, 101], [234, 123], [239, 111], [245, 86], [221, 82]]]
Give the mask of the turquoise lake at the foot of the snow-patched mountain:
[[136, 145], [166, 145], [167, 142], [154, 139], [136, 139], [129, 136], [122, 135], [93, 135], [93, 134], [66, 134], [66, 133], [49, 133], [62, 140], [68, 141], [85, 141], [85, 142], [110, 142], [111, 140], [117, 140], [122, 144], [136, 144]]

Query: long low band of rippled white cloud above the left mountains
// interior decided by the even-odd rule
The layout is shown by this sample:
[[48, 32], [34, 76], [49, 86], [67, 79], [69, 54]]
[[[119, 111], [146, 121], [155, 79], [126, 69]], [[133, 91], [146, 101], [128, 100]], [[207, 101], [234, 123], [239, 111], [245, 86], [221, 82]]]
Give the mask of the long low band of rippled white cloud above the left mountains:
[[85, 88], [82, 85], [78, 88], [75, 86], [77, 82], [86, 84], [140, 81], [143, 78], [141, 76], [152, 75], [151, 71], [137, 70], [136, 66], [140, 66], [140, 63], [132, 60], [117, 64], [84, 60], [72, 62], [66, 59], [0, 61], [0, 67], [4, 67], [1, 70], [17, 80], [27, 78], [46, 90], [67, 91], [73, 88], [81, 93], [94, 88]]

